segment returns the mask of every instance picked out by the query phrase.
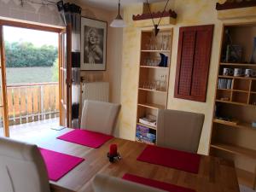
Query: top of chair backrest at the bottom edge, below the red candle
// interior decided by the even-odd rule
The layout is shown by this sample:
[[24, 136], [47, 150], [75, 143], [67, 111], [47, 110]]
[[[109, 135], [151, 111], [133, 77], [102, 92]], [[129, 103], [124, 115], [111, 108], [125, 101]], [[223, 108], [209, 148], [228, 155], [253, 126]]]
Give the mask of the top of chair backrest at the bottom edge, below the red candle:
[[118, 177], [98, 174], [92, 182], [94, 192], [166, 192]]

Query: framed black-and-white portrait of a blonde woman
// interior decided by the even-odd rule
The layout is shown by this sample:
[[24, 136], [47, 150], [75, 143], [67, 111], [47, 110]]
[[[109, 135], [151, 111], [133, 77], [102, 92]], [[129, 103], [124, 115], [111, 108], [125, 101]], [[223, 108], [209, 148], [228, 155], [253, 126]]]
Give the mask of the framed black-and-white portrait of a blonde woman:
[[81, 17], [81, 70], [106, 70], [108, 23]]

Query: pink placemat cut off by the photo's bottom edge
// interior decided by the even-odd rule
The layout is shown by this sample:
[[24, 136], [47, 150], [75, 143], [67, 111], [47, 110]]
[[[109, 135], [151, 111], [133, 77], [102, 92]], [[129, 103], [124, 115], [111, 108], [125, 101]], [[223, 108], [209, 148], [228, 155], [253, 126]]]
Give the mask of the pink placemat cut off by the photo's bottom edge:
[[170, 192], [195, 192], [195, 190], [193, 189], [183, 188], [174, 184], [164, 183], [145, 177], [138, 177], [136, 175], [131, 175], [127, 173], [124, 175], [123, 179], [134, 183], [148, 185], [150, 187], [154, 187], [157, 189], [163, 189]]

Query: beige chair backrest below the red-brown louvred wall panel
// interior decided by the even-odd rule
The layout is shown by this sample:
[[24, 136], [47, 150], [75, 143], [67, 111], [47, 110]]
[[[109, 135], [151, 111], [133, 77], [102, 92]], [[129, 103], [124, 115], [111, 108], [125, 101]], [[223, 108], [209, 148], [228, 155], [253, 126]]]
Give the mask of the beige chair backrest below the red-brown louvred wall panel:
[[157, 145], [197, 153], [205, 115], [161, 109], [157, 117]]

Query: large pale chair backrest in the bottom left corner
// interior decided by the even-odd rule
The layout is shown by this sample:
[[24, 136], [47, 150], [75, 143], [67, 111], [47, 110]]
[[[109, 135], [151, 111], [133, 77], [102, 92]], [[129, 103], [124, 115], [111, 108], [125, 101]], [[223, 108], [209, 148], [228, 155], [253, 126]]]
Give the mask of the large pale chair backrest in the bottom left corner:
[[0, 137], [0, 191], [49, 192], [46, 166], [36, 145]]

